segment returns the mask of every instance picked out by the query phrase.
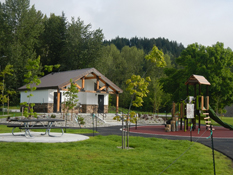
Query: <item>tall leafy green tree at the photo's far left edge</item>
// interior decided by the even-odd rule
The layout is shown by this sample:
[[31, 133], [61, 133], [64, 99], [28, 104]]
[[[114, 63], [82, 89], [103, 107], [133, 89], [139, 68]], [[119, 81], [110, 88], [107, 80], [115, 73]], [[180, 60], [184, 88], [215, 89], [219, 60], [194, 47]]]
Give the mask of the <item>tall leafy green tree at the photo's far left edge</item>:
[[[6, 80], [13, 89], [22, 86], [25, 64], [28, 59], [36, 59], [35, 45], [43, 32], [42, 14], [35, 7], [30, 8], [29, 0], [6, 0], [1, 4], [3, 27], [0, 27], [0, 38], [4, 45], [1, 55], [7, 57], [7, 62], [13, 65], [14, 74]], [[17, 96], [16, 96], [17, 97]], [[15, 99], [16, 100], [16, 99]]]

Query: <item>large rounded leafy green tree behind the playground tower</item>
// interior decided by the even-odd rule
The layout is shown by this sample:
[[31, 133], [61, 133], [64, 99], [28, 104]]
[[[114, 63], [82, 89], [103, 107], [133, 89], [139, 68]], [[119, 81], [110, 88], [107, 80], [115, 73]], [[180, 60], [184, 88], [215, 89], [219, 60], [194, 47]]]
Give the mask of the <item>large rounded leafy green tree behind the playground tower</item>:
[[[233, 102], [233, 53], [217, 42], [212, 46], [197, 43], [189, 45], [176, 59], [180, 69], [166, 69], [162, 79], [164, 90], [172, 94], [174, 101], [186, 98], [185, 82], [192, 75], [203, 75], [210, 83], [210, 104], [218, 111]], [[205, 89], [202, 89], [205, 92]]]

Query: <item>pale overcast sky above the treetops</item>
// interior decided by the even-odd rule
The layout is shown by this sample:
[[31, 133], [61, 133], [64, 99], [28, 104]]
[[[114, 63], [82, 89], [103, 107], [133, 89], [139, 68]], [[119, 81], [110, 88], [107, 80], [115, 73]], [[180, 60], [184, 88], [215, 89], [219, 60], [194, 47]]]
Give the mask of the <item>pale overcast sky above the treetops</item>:
[[[3, 1], [3, 0], [1, 0]], [[232, 0], [31, 0], [48, 17], [80, 17], [105, 39], [164, 37], [182, 43], [233, 49]]]

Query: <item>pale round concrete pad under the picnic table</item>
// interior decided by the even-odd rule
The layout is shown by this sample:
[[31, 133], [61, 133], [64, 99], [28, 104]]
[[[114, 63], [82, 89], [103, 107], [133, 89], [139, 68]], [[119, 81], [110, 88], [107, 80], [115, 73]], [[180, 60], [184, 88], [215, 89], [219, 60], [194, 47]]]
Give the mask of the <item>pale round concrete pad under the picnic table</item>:
[[[18, 132], [15, 134], [24, 134], [24, 132]], [[33, 137], [25, 136], [13, 136], [12, 133], [0, 134], [0, 142], [40, 142], [40, 143], [58, 143], [58, 142], [77, 142], [89, 139], [88, 136], [80, 134], [66, 134], [59, 137], [61, 133], [52, 133], [58, 137], [49, 137], [48, 135], [41, 135], [42, 132], [31, 132]]]

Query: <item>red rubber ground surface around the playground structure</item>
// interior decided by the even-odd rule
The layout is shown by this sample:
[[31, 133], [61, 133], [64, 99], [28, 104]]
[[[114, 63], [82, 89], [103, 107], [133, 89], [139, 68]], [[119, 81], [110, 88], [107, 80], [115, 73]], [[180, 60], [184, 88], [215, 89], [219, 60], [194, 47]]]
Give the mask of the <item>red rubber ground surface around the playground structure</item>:
[[[217, 138], [233, 138], [233, 130], [226, 129], [224, 127], [216, 126], [214, 127], [213, 137]], [[201, 129], [198, 134], [198, 129], [192, 131], [192, 137], [200, 137], [206, 131], [205, 126], [201, 126]], [[175, 132], [165, 132], [164, 125], [156, 125], [156, 126], [138, 126], [130, 127], [130, 132], [135, 133], [144, 133], [144, 134], [156, 134], [156, 135], [168, 135], [168, 136], [183, 136], [183, 137], [190, 137], [190, 128], [184, 132], [184, 130], [179, 130]], [[210, 131], [206, 131], [202, 137], [209, 137]]]

